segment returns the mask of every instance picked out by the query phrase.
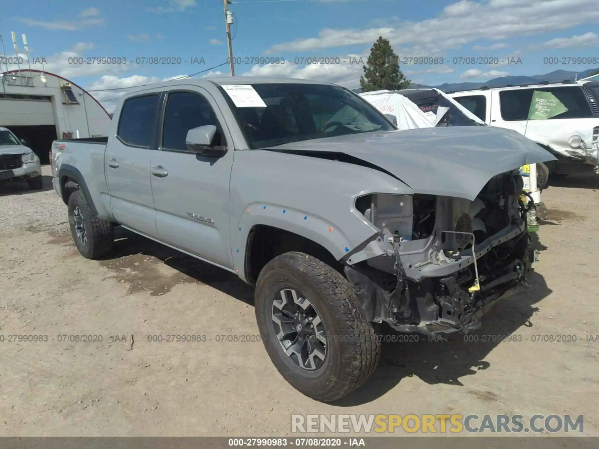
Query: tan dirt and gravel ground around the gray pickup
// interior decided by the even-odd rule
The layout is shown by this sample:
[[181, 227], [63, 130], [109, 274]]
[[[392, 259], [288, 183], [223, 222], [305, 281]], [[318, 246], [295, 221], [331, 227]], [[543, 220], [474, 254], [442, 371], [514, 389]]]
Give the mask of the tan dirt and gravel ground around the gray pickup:
[[[289, 386], [262, 342], [221, 337], [258, 335], [252, 290], [236, 277], [122, 232], [113, 257], [86, 260], [46, 187], [0, 189], [14, 207], [40, 198], [63, 216], [0, 235], [2, 436], [283, 436], [293, 413], [583, 414], [584, 433], [599, 435], [597, 177], [543, 192], [532, 289], [498, 302], [478, 342], [386, 343], [370, 382], [332, 405]], [[173, 334], [206, 341], [149, 341]], [[509, 334], [522, 339], [482, 342]]]

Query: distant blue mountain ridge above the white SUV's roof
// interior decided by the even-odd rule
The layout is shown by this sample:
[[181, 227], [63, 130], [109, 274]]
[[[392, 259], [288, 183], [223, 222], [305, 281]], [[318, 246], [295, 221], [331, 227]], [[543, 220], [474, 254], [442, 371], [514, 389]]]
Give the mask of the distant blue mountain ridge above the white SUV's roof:
[[[439, 90], [443, 90], [443, 92], [455, 92], [456, 90], [468, 90], [468, 89], [480, 89], [480, 87], [488, 86], [488, 87], [499, 87], [506, 86], [506, 84], [513, 84], [514, 86], [520, 86], [521, 84], [537, 84], [541, 81], [565, 81], [570, 80], [574, 81], [574, 78], [581, 79], [591, 76], [592, 73], [599, 70], [599, 68], [588, 69], [583, 72], [572, 72], [567, 70], [555, 70], [553, 72], [549, 72], [542, 75], [533, 75], [532, 77], [527, 76], [507, 76], [507, 77], [499, 77], [492, 78], [489, 81], [485, 81], [484, 83], [443, 83], [437, 87]], [[415, 84], [411, 83], [409, 89], [431, 89], [433, 86], [425, 86], [424, 84]], [[352, 89], [355, 93], [361, 93], [362, 89], [357, 87], [356, 89]]]

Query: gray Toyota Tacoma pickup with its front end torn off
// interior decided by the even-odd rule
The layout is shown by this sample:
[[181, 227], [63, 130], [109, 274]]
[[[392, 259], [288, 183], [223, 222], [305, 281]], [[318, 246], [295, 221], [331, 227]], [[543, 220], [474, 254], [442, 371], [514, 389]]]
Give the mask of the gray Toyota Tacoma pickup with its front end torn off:
[[518, 168], [548, 160], [507, 129], [398, 131], [334, 84], [248, 77], [144, 87], [107, 138], [52, 148], [84, 257], [121, 225], [255, 284], [268, 355], [319, 401], [368, 380], [382, 323], [467, 332], [526, 282]]

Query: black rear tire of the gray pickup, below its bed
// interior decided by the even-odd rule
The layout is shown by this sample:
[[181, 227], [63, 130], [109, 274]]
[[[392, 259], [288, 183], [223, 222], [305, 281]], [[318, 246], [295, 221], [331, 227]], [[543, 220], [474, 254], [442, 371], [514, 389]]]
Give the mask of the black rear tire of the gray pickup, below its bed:
[[[86, 243], [77, 236], [74, 211], [79, 208], [86, 231]], [[75, 246], [86, 259], [99, 259], [110, 253], [114, 247], [114, 225], [96, 217], [81, 190], [71, 193], [68, 201], [69, 225]]]

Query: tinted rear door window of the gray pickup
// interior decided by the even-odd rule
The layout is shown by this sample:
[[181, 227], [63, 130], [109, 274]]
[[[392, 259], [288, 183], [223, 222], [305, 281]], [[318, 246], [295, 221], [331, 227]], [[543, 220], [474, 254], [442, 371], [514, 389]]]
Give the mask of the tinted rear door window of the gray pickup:
[[159, 95], [144, 95], [125, 100], [120, 112], [117, 136], [125, 144], [149, 148], [154, 135]]

